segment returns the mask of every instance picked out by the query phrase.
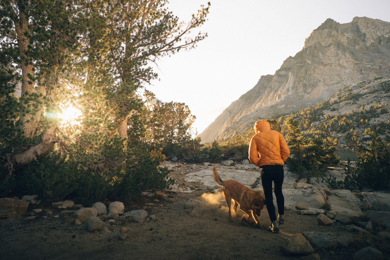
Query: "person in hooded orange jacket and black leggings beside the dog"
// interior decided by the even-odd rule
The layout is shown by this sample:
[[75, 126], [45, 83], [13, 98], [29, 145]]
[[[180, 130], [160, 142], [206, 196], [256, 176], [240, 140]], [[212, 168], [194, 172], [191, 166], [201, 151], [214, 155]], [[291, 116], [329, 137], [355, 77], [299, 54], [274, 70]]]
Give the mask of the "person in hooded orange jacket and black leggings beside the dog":
[[[283, 135], [271, 130], [266, 120], [255, 124], [256, 134], [250, 140], [249, 160], [260, 168], [261, 183], [266, 199], [267, 210], [272, 226], [268, 228], [273, 233], [279, 233], [279, 226], [284, 224], [284, 196], [282, 184], [284, 179], [284, 161], [290, 156], [290, 150]], [[278, 218], [275, 213], [272, 196], [272, 182], [278, 205]]]

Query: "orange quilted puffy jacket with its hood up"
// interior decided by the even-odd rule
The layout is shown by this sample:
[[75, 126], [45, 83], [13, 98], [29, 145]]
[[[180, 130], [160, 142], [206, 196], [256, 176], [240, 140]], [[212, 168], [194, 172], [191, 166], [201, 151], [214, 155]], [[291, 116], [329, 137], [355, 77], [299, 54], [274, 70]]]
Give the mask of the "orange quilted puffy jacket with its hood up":
[[[258, 167], [270, 164], [284, 165], [284, 161], [290, 156], [290, 150], [283, 135], [271, 130], [266, 120], [257, 121], [255, 127], [259, 133], [250, 140], [249, 160], [251, 163]], [[257, 157], [258, 154], [260, 159]]]

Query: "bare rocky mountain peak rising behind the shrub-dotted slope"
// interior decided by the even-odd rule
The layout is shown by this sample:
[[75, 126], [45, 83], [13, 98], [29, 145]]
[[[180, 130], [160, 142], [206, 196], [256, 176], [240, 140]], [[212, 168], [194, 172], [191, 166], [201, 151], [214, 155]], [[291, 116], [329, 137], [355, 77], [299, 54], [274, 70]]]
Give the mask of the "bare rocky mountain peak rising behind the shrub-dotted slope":
[[201, 134], [202, 142], [228, 139], [256, 120], [291, 113], [328, 99], [339, 88], [390, 75], [390, 23], [355, 17], [327, 19], [274, 75], [232, 102]]

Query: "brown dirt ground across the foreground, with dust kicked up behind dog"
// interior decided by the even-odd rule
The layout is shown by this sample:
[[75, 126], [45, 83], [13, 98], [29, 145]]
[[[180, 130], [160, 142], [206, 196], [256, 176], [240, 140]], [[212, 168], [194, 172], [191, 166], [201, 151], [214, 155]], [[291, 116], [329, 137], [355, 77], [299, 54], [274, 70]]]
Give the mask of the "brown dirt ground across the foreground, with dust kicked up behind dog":
[[[172, 175], [178, 182], [183, 181], [182, 175]], [[76, 226], [73, 213], [61, 213], [64, 209], [52, 208], [49, 203], [30, 205], [28, 210], [42, 208], [44, 211], [35, 214], [34, 219], [26, 216], [0, 219], [0, 259], [300, 259], [301, 256], [284, 256], [280, 252], [280, 245], [290, 235], [305, 231], [348, 233], [344, 224], [321, 226], [317, 224], [317, 216], [288, 210], [279, 234], [242, 225], [240, 218], [234, 217], [235, 221], [231, 223], [223, 203], [185, 209], [184, 202], [188, 198], [208, 198], [209, 202], [222, 198], [210, 193], [203, 195], [208, 191], [199, 183], [187, 184], [198, 190], [170, 195], [174, 202], [147, 196], [138, 203], [122, 201], [125, 212], [145, 209], [149, 215], [154, 214], [156, 220], [135, 223], [118, 218], [113, 224], [106, 223], [111, 231], [106, 235], [88, 232], [85, 223]], [[108, 206], [110, 202], [103, 203]], [[47, 215], [45, 210], [51, 210], [53, 214]], [[260, 221], [268, 228], [266, 207]], [[118, 237], [121, 227], [128, 228], [124, 240]], [[356, 241], [348, 248], [315, 253], [322, 260], [352, 259], [353, 253], [365, 246]], [[385, 259], [390, 259], [388, 241], [376, 241], [375, 246], [383, 252]]]

